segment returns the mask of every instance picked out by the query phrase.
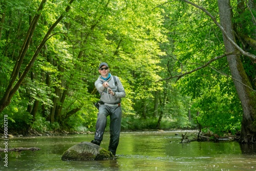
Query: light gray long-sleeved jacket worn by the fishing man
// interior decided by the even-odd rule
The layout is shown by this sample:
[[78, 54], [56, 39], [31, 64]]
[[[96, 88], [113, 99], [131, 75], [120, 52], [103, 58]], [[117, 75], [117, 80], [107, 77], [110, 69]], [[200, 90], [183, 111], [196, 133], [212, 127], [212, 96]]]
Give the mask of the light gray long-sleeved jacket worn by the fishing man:
[[[112, 96], [111, 94], [108, 93], [108, 89], [104, 88], [102, 86], [102, 82], [105, 82], [104, 79], [101, 78], [101, 75], [98, 77], [98, 79], [95, 81], [95, 87], [100, 93], [100, 100], [103, 101], [104, 103], [109, 103], [109, 104], [116, 104], [121, 102], [121, 98], [125, 97], [125, 91], [123, 88], [123, 85], [120, 81], [120, 79], [116, 77], [117, 81], [117, 86], [115, 85], [115, 81], [113, 76], [111, 75], [108, 80], [106, 80], [109, 83], [109, 87], [113, 92], [116, 92], [115, 96]], [[102, 81], [102, 82], [101, 82]]]

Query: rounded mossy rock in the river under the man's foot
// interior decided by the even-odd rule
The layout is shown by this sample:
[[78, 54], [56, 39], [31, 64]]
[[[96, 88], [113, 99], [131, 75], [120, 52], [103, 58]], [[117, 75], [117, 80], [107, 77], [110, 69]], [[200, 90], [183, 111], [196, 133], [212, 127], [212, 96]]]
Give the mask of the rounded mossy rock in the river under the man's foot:
[[61, 160], [104, 160], [114, 155], [106, 149], [91, 142], [80, 142], [63, 153]]

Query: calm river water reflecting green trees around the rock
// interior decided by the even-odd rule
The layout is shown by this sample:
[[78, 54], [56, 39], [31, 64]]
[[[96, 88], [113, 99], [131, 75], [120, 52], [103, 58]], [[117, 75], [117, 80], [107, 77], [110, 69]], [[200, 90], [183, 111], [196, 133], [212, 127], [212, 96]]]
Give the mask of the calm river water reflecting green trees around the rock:
[[[193, 132], [187, 134], [191, 138]], [[240, 146], [237, 142], [181, 144], [180, 135], [180, 131], [122, 132], [117, 158], [103, 161], [61, 160], [69, 147], [90, 142], [93, 134], [9, 138], [9, 148], [41, 150], [23, 151], [17, 158], [8, 153], [8, 167], [2, 160], [0, 170], [256, 170], [256, 146]], [[101, 147], [108, 149], [108, 145], [109, 134], [105, 133]]]

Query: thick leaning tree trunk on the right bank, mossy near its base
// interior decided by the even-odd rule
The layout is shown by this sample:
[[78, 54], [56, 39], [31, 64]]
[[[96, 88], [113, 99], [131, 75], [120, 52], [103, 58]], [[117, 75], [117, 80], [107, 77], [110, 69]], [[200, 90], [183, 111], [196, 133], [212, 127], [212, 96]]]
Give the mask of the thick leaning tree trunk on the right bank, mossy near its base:
[[[220, 22], [227, 35], [234, 41], [232, 28], [232, 15], [230, 0], [218, 0]], [[236, 52], [237, 48], [223, 34], [226, 53]], [[252, 86], [243, 68], [240, 55], [229, 55], [227, 57], [231, 76], [236, 87], [239, 99], [243, 109], [242, 129], [240, 143], [252, 143], [256, 139], [256, 97], [252, 91]]]

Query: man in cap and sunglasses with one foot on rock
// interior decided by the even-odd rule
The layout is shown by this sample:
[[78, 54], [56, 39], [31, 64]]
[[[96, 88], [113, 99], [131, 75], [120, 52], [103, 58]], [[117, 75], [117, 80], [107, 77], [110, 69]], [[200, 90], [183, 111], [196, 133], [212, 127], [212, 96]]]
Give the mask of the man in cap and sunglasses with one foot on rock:
[[120, 79], [112, 76], [107, 63], [99, 65], [100, 76], [95, 81], [95, 87], [100, 93], [99, 113], [96, 122], [94, 140], [91, 142], [100, 145], [106, 127], [106, 117], [110, 116], [110, 143], [109, 151], [116, 155], [121, 131], [121, 98], [125, 97], [125, 91]]

